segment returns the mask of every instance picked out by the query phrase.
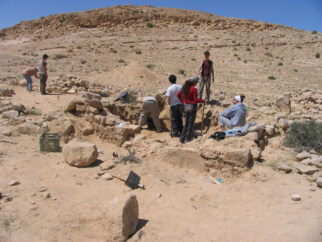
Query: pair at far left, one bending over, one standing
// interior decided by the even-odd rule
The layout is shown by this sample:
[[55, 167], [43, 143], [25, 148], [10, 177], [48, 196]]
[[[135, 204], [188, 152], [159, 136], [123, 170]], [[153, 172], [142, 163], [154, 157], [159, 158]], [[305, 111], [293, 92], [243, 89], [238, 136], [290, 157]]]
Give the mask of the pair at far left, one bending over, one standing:
[[[48, 79], [48, 73], [47, 73], [47, 59], [48, 55], [44, 54], [42, 56], [42, 59], [38, 63], [38, 67], [28, 67], [24, 69], [21, 73], [23, 78], [27, 81], [27, 91], [32, 92], [32, 76], [34, 76], [37, 79], [40, 79], [40, 94], [46, 95], [46, 82]], [[39, 77], [37, 73], [39, 72]]]

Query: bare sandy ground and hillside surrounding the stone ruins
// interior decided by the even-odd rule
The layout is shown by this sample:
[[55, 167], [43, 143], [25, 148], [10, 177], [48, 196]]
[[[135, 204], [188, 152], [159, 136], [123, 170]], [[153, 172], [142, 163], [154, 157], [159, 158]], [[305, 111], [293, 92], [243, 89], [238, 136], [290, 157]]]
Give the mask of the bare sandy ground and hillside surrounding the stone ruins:
[[[133, 10], [143, 13], [131, 23], [130, 17], [135, 15], [128, 13], [136, 13]], [[61, 120], [71, 118], [62, 111], [74, 95], [55, 92], [41, 95], [39, 81], [34, 78], [35, 91], [31, 93], [15, 85], [22, 79], [21, 71], [36, 66], [44, 53], [50, 56], [48, 82], [57, 82], [61, 74], [82, 78], [109, 88], [109, 97], [103, 100], [112, 101], [124, 90], [135, 93], [139, 100], [146, 95], [163, 93], [171, 74], [182, 85], [196, 74], [203, 51], [209, 50], [215, 72], [212, 99], [220, 91], [225, 94], [223, 102], [230, 103], [235, 94], [243, 93], [247, 97], [249, 120], [265, 125], [277, 122], [280, 113], [273, 104], [280, 94], [292, 93], [294, 100], [303, 88], [321, 93], [322, 62], [315, 57], [317, 52], [322, 52], [321, 33], [268, 23], [269, 27], [265, 28], [265, 23], [256, 21], [177, 9], [118, 6], [100, 11], [112, 11], [106, 27], [102, 23], [95, 27], [74, 27], [69, 22], [63, 26], [55, 20], [60, 20], [62, 15], [55, 15], [37, 20], [48, 20], [45, 27], [34, 24], [33, 28], [27, 28], [32, 24], [22, 23], [13, 30], [2, 30], [6, 36], [0, 40], [0, 88], [12, 88], [15, 94], [1, 97], [1, 103], [10, 101], [21, 103], [28, 110], [37, 109], [39, 115], [28, 115], [26, 118], [30, 119], [41, 119], [46, 114]], [[91, 16], [94, 13], [82, 13], [85, 16], [82, 18], [94, 19]], [[127, 19], [124, 17], [122, 23], [113, 24], [111, 19], [113, 16], [117, 19], [119, 13]], [[156, 14], [161, 17], [154, 18]], [[182, 21], [166, 21], [162, 19], [166, 14]], [[201, 24], [195, 25], [200, 16], [204, 16]], [[210, 24], [206, 25], [208, 20]], [[226, 26], [218, 26], [219, 20]], [[154, 26], [147, 27], [146, 22]], [[261, 27], [256, 23], [263, 29], [259, 30]], [[141, 54], [136, 54], [137, 51]], [[184, 72], [179, 74], [180, 70]], [[269, 76], [276, 80], [269, 80]], [[254, 105], [255, 99], [262, 107]], [[213, 113], [224, 110], [223, 106], [216, 105], [207, 108]], [[318, 122], [321, 122], [320, 112], [321, 109], [314, 114]], [[286, 118], [291, 119], [290, 116]], [[140, 134], [148, 141], [162, 140], [164, 146], [175, 145], [183, 150], [204, 147], [205, 139], [181, 145], [178, 139], [170, 137], [169, 107], [164, 108], [160, 117], [166, 132], [156, 134], [144, 127]], [[94, 143], [103, 151], [91, 166], [70, 166], [61, 152], [40, 152], [39, 134], [22, 135], [17, 125], [0, 118], [1, 126], [12, 130], [11, 136], [0, 135], [0, 141], [11, 142], [0, 143], [0, 191], [13, 197], [7, 203], [0, 200], [1, 241], [113, 241], [106, 223], [106, 210], [115, 196], [124, 193], [136, 195], [139, 204], [139, 224], [127, 241], [322, 240], [322, 190], [310, 176], [298, 173], [295, 168], [287, 174], [279, 172], [280, 161], [292, 167], [299, 164], [293, 160], [297, 153], [282, 145], [285, 137], [282, 133], [269, 139], [261, 159], [254, 161], [251, 168], [238, 174], [224, 169], [222, 173], [220, 170], [215, 173], [215, 178], [222, 178], [222, 186], [211, 182], [209, 175], [213, 173], [209, 170], [167, 162], [160, 151], [164, 147], [142, 156], [140, 164], [117, 164], [111, 173], [126, 177], [134, 170], [146, 187], [130, 190], [120, 180], [94, 178], [102, 162], [117, 160], [112, 156], [114, 151], [119, 155], [128, 154], [124, 146], [107, 142], [96, 133], [83, 136], [81, 131], [86, 121], [82, 117], [72, 118], [73, 136]], [[197, 123], [200, 129], [201, 110]], [[208, 137], [219, 130], [213, 118], [207, 124]], [[233, 137], [220, 142], [214, 145], [223, 149], [240, 148], [244, 140]], [[61, 140], [60, 146], [64, 143]], [[143, 152], [139, 147], [135, 149], [138, 155]], [[312, 158], [318, 156], [311, 152]], [[8, 186], [14, 179], [20, 183]], [[48, 189], [50, 198], [41, 196], [41, 187]], [[299, 194], [301, 201], [293, 201], [292, 194]]]

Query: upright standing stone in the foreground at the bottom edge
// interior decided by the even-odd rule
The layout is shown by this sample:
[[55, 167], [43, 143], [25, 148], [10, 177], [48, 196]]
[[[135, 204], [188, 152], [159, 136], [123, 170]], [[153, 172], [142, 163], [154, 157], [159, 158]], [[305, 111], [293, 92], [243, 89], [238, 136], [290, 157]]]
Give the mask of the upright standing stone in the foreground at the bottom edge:
[[106, 211], [107, 227], [115, 241], [125, 241], [139, 222], [139, 206], [135, 195], [117, 196]]

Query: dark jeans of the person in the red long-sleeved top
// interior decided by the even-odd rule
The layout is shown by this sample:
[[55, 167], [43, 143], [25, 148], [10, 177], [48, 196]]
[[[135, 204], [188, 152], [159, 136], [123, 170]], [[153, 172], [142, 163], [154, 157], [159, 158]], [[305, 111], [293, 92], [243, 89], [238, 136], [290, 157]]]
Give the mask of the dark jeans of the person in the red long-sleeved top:
[[181, 143], [193, 140], [193, 127], [197, 114], [197, 104], [185, 104], [186, 124], [183, 127], [179, 141]]

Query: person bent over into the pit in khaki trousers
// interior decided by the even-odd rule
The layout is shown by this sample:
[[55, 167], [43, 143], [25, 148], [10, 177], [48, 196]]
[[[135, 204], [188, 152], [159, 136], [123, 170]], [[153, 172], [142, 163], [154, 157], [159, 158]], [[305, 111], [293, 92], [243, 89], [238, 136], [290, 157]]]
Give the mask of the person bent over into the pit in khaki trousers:
[[147, 112], [151, 112], [153, 124], [156, 127], [156, 133], [162, 133], [162, 126], [160, 123], [159, 115], [160, 109], [159, 105], [154, 97], [144, 97], [142, 102], [142, 113], [140, 115], [140, 119], [138, 125], [142, 128], [146, 123]]

